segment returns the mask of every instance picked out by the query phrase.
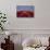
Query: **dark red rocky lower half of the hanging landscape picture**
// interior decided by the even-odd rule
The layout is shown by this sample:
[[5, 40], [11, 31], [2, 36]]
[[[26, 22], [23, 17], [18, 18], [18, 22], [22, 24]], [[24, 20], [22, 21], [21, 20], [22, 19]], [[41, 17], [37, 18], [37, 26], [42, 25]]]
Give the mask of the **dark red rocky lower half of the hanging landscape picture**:
[[34, 11], [17, 11], [17, 17], [34, 17]]

